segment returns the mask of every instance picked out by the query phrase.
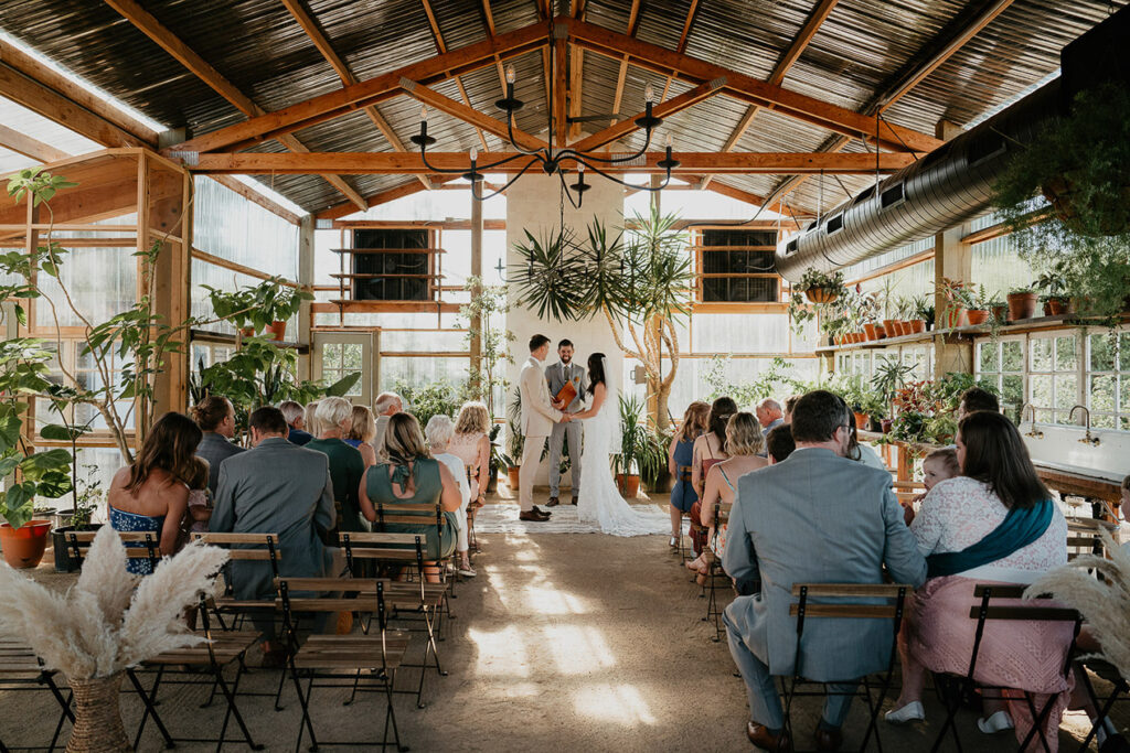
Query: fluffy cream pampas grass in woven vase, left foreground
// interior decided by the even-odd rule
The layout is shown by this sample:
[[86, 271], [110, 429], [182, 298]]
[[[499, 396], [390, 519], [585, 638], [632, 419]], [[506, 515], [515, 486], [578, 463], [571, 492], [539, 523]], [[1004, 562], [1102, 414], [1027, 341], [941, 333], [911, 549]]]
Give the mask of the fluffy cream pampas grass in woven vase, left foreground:
[[138, 578], [125, 571], [118, 532], [103, 526], [82, 575], [66, 594], [0, 567], [0, 631], [31, 646], [47, 668], [71, 680], [108, 677], [202, 640], [180, 615], [201, 590], [211, 589], [227, 557], [223, 549], [193, 543], [162, 560], [138, 586]]

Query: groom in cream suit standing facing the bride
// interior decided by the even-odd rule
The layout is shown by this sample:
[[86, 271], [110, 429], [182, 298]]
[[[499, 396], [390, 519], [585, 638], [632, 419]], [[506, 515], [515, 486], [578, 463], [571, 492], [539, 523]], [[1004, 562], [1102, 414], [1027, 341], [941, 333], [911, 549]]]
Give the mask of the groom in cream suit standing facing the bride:
[[538, 523], [549, 519], [549, 513], [533, 506], [533, 476], [541, 463], [541, 450], [554, 423], [570, 421], [570, 414], [560, 411], [564, 406], [555, 405], [549, 396], [549, 386], [541, 370], [541, 364], [548, 354], [549, 338], [544, 334], [530, 338], [530, 359], [522, 366], [518, 382], [522, 404], [522, 434], [525, 436], [522, 467], [518, 474], [518, 504], [522, 510], [518, 518]]

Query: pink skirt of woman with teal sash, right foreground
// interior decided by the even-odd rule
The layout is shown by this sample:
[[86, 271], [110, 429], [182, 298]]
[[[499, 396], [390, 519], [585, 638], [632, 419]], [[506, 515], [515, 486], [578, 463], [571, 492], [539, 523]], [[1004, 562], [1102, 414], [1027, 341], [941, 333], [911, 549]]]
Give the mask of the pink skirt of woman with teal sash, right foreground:
[[[910, 655], [925, 668], [962, 676], [968, 673], [977, 627], [977, 621], [970, 618], [970, 607], [981, 603], [973, 595], [973, 588], [979, 583], [1015, 585], [947, 576], [928, 580], [914, 594], [903, 639]], [[1016, 606], [1031, 605], [1031, 602], [994, 598], [991, 604]], [[1052, 604], [1045, 602], [1043, 605]], [[1069, 622], [989, 620], [973, 672], [973, 678], [979, 684], [1011, 689], [1003, 694], [1009, 716], [1016, 724], [1017, 742], [1027, 736], [1033, 724], [1022, 691], [1035, 694], [1037, 711], [1048, 702], [1049, 695], [1055, 695], [1044, 724], [1044, 735], [1052, 753], [1059, 747], [1060, 719], [1074, 685], [1070, 675], [1063, 674], [1072, 630], [1074, 625]], [[1033, 736], [1028, 750], [1043, 750], [1038, 734]]]

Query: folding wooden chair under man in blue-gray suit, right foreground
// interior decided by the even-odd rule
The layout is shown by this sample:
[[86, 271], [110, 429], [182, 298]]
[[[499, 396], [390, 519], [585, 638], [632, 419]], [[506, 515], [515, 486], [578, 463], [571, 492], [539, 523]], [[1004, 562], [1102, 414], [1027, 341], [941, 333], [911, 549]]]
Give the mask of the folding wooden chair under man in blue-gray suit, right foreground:
[[[879, 718], [879, 711], [883, 709], [883, 702], [886, 700], [887, 692], [890, 690], [890, 677], [895, 669], [898, 632], [903, 625], [903, 612], [906, 606], [906, 599], [913, 593], [914, 588], [905, 584], [793, 584], [792, 595], [799, 597], [799, 601], [789, 606], [789, 614], [797, 618], [797, 655], [792, 677], [790, 677], [788, 682], [784, 676], [780, 678], [781, 694], [784, 697], [784, 730], [789, 735], [790, 739], [797, 739], [797, 736], [792, 730], [792, 701], [794, 698], [806, 695], [828, 695], [832, 692], [827, 689], [827, 685], [829, 684], [850, 684], [857, 688], [862, 684], [862, 691], [853, 690], [850, 693], [846, 693], [867, 700], [869, 719], [867, 733], [863, 735], [863, 743], [860, 745], [859, 750], [861, 752], [867, 750], [867, 744], [871, 741], [871, 735], [873, 734], [875, 746], [879, 753], [883, 753], [883, 742], [879, 739], [877, 720]], [[855, 601], [811, 603], [809, 601], [811, 598], [849, 598]], [[876, 602], [878, 599], [893, 601], [894, 603], [877, 604]], [[801, 664], [805, 650], [805, 624], [808, 620], [823, 618], [838, 620], [890, 620], [890, 656], [887, 659], [886, 671], [881, 673], [883, 678], [878, 682], [876, 688], [878, 691], [877, 699], [872, 699], [871, 697], [872, 683], [870, 676], [844, 677], [840, 681], [825, 680], [817, 682], [807, 680], [801, 675]], [[822, 691], [798, 691], [797, 686], [803, 684], [824, 685], [825, 688]]]

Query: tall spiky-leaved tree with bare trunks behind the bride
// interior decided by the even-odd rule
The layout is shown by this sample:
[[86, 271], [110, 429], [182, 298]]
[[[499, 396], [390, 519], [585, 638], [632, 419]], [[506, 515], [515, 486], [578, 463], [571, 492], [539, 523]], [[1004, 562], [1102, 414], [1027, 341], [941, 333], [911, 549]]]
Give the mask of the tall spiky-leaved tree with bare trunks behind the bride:
[[[539, 317], [602, 316], [616, 345], [646, 373], [652, 421], [664, 426], [679, 368], [679, 323], [690, 313], [688, 236], [675, 214], [652, 204], [615, 237], [594, 220], [584, 239], [571, 230], [515, 244], [523, 263], [510, 271], [521, 305]], [[516, 282], [513, 282], [516, 280]]]

